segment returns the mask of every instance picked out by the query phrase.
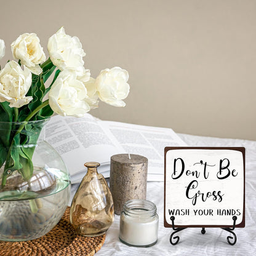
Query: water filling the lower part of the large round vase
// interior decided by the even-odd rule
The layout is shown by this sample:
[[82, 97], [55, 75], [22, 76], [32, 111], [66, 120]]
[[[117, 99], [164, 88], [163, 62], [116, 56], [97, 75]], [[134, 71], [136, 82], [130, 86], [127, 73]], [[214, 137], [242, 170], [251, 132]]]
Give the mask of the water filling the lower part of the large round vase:
[[11, 178], [8, 188], [0, 188], [0, 240], [26, 241], [48, 233], [68, 205], [68, 174], [46, 166], [34, 170], [30, 182], [18, 173]]

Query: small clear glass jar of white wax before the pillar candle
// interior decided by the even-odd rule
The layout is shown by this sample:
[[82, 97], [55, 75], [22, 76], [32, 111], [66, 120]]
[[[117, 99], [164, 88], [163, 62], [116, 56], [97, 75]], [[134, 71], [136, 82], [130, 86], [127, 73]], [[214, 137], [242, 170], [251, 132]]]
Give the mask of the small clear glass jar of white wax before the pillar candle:
[[156, 205], [134, 199], [124, 204], [120, 216], [119, 239], [128, 246], [150, 247], [158, 241]]

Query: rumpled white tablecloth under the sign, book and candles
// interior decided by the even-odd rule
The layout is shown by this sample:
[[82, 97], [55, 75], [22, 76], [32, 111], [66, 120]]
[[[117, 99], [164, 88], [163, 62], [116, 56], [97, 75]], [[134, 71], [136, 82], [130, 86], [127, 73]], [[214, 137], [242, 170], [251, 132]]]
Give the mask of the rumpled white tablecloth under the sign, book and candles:
[[[206, 228], [201, 234], [200, 228], [187, 228], [178, 233], [180, 241], [176, 246], [169, 242], [172, 228], [164, 228], [164, 183], [148, 182], [147, 199], [158, 208], [159, 234], [158, 242], [148, 248], [129, 247], [119, 241], [119, 216], [106, 233], [106, 241], [97, 256], [103, 255], [184, 255], [184, 256], [241, 256], [256, 255], [256, 142], [238, 139], [199, 137], [179, 134], [189, 146], [244, 146], [246, 148], [246, 227], [236, 228], [234, 232], [238, 241], [234, 246], [226, 242], [230, 233], [220, 228]], [[73, 194], [78, 185], [73, 185]]]

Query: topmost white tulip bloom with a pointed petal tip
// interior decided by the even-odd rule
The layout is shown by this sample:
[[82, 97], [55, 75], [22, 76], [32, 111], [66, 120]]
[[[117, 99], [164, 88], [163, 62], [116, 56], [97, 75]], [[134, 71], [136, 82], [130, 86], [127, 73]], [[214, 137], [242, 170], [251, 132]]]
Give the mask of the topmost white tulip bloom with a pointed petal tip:
[[66, 34], [63, 27], [49, 38], [47, 49], [50, 60], [59, 70], [70, 68], [79, 75], [84, 73], [82, 57], [86, 54], [82, 44], [76, 36], [71, 37]]

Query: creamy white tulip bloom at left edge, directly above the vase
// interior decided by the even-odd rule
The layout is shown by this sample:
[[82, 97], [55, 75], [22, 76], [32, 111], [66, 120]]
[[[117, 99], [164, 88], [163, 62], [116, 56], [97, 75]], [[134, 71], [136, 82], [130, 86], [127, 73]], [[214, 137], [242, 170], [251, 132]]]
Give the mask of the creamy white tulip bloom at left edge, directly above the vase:
[[33, 97], [26, 97], [30, 89], [32, 76], [30, 70], [24, 70], [12, 60], [0, 71], [0, 102], [10, 102], [10, 107], [20, 108], [28, 104]]

